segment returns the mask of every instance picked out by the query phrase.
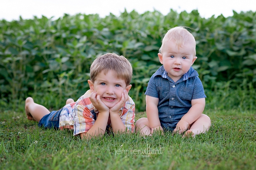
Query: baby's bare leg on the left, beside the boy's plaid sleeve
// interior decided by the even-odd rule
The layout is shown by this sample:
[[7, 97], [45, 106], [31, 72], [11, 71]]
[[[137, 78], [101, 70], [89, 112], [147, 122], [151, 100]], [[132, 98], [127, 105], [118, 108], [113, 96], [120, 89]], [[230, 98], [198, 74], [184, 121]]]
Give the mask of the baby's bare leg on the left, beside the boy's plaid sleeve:
[[148, 118], [140, 118], [135, 123], [136, 132], [140, 132], [142, 136], [151, 135], [151, 128], [149, 126]]

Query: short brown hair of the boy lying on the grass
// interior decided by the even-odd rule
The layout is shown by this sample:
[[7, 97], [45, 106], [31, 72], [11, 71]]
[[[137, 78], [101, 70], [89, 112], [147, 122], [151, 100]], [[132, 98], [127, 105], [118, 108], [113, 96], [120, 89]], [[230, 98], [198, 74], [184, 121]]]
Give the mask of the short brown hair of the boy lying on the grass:
[[116, 78], [123, 79], [126, 86], [131, 83], [132, 80], [132, 65], [122, 55], [114, 53], [108, 53], [100, 55], [96, 58], [90, 67], [90, 79], [94, 83], [95, 78], [101, 72], [107, 74], [109, 70], [115, 72]]

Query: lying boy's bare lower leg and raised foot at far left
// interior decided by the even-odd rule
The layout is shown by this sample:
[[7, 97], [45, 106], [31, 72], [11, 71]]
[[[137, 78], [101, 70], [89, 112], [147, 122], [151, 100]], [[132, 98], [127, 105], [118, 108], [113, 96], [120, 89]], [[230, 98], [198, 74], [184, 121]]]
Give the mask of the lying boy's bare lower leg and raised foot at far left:
[[28, 120], [34, 120], [37, 122], [39, 122], [42, 117], [50, 113], [46, 107], [36, 104], [31, 97], [28, 97], [25, 101], [25, 111]]

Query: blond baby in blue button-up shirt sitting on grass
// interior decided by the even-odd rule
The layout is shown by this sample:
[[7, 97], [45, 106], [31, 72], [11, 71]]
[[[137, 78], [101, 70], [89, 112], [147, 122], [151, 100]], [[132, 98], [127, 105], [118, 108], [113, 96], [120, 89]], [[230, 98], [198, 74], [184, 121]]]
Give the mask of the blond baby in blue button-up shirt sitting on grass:
[[171, 130], [195, 136], [209, 130], [211, 120], [202, 114], [205, 94], [198, 73], [196, 41], [183, 27], [170, 29], [158, 53], [161, 66], [150, 78], [146, 94], [147, 118], [136, 122], [136, 130], [151, 135], [154, 130]]

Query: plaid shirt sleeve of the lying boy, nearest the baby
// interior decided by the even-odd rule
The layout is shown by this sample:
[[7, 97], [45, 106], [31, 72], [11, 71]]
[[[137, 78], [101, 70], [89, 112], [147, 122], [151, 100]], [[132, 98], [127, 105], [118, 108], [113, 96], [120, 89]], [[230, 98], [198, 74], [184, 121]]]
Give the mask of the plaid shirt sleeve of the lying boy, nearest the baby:
[[124, 126], [131, 132], [134, 132], [134, 129], [135, 129], [134, 117], [135, 117], [135, 103], [133, 102], [132, 98], [129, 96], [129, 99], [124, 105], [121, 120], [124, 123]]

